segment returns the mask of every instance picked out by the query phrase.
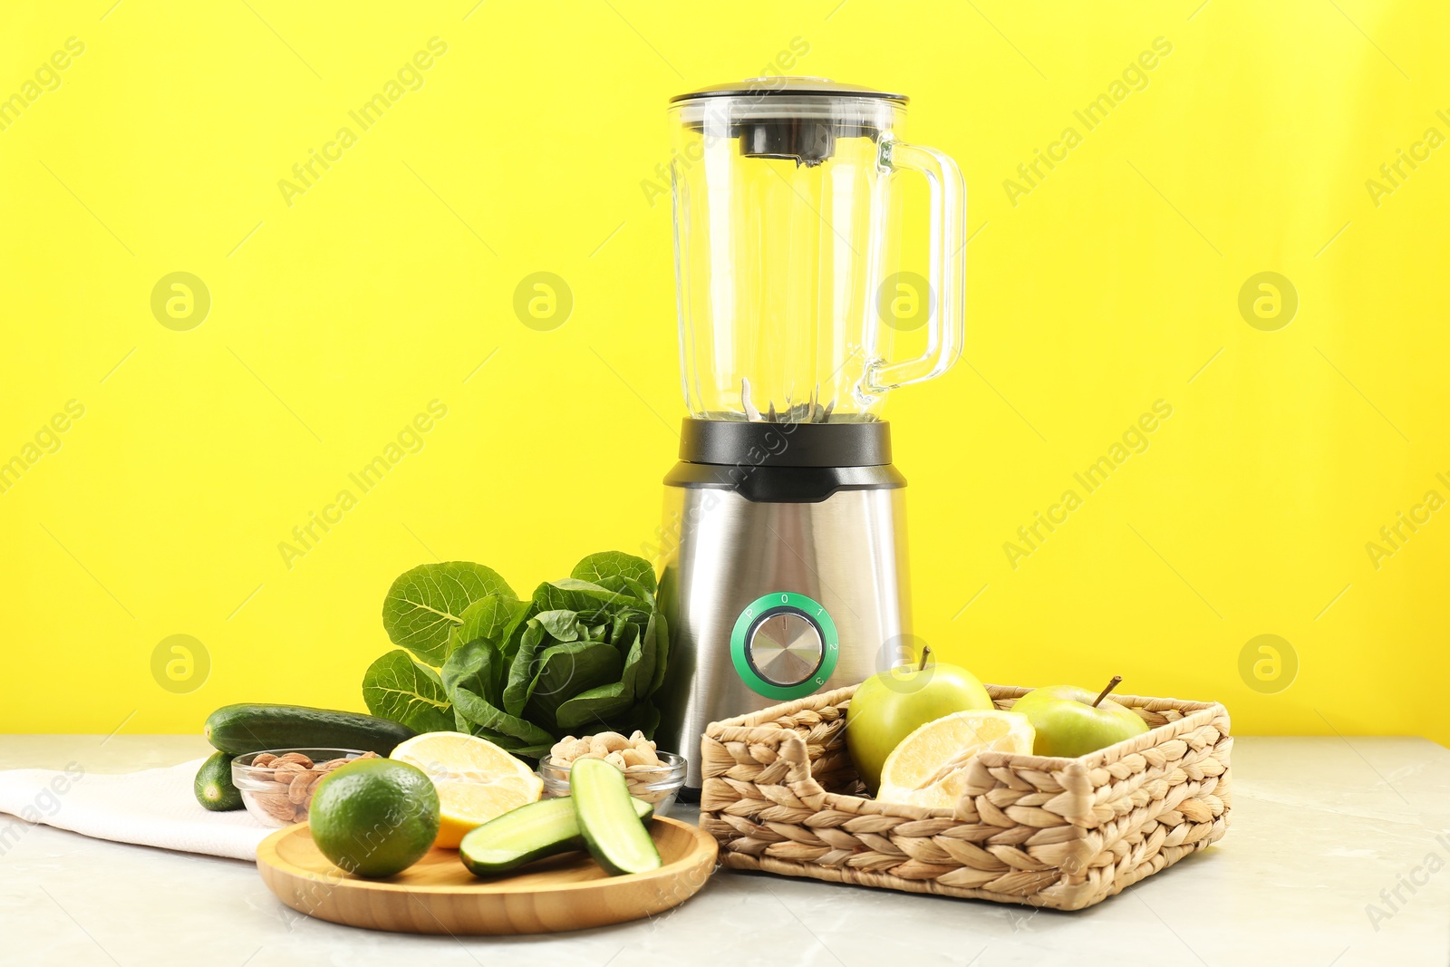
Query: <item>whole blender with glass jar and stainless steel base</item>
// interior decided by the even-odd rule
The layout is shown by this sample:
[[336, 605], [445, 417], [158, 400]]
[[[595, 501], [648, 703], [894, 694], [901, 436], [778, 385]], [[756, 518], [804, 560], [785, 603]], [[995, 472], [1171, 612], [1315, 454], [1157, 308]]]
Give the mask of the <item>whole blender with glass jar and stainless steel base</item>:
[[[811, 77], [670, 101], [689, 416], [664, 480], [658, 741], [689, 760], [686, 796], [709, 722], [909, 658], [906, 481], [880, 412], [961, 354], [966, 193], [905, 119], [900, 94]], [[896, 271], [906, 175], [929, 193], [925, 280]]]

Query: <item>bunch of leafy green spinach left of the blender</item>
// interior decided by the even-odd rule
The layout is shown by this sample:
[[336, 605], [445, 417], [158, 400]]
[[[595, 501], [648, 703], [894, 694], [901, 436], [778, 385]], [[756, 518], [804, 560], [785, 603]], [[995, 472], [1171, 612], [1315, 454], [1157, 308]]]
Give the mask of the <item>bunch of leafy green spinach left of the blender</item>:
[[383, 628], [400, 648], [367, 670], [362, 697], [419, 732], [538, 758], [570, 732], [652, 735], [660, 721], [668, 636], [638, 557], [592, 554], [528, 600], [478, 564], [423, 564], [393, 581]]

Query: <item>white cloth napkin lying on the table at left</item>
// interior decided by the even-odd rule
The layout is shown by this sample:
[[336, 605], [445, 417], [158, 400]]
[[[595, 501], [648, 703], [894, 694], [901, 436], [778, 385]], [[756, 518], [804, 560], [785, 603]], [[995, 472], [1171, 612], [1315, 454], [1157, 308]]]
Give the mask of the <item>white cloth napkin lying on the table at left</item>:
[[[245, 809], [209, 812], [191, 783], [204, 760], [106, 776], [49, 768], [0, 771], [0, 813], [97, 839], [255, 860], [271, 828]], [[13, 821], [0, 816], [0, 837]]]

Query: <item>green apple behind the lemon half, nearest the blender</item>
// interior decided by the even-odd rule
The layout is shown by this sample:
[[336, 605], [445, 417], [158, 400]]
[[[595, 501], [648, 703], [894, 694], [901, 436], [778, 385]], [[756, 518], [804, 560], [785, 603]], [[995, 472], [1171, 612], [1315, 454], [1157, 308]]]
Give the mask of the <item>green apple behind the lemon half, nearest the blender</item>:
[[928, 667], [929, 654], [931, 648], [922, 648], [915, 668], [892, 668], [863, 681], [845, 710], [845, 748], [873, 796], [886, 757], [903, 738], [944, 715], [992, 707], [976, 676], [960, 665]]

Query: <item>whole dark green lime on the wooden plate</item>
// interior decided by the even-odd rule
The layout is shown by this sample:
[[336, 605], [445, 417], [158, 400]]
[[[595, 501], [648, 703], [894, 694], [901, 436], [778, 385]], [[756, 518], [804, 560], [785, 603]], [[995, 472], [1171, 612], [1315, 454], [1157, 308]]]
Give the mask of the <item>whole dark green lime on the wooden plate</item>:
[[361, 758], [318, 783], [307, 823], [318, 850], [338, 868], [393, 876], [434, 845], [438, 790], [407, 763]]

